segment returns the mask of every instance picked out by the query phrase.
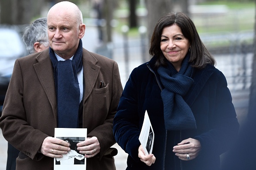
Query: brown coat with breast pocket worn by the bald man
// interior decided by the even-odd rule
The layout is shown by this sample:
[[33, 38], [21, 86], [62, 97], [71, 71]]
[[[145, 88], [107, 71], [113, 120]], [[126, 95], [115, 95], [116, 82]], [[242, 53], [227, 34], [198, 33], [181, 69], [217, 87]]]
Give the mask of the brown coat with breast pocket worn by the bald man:
[[[83, 128], [100, 142], [100, 153], [87, 159], [87, 170], [113, 170], [109, 149], [116, 141], [112, 121], [122, 84], [115, 61], [83, 49]], [[100, 88], [103, 81], [105, 88]], [[17, 170], [53, 169], [53, 158], [38, 154], [44, 139], [54, 136], [57, 103], [49, 49], [19, 58], [7, 90], [0, 127], [6, 140], [21, 152]]]

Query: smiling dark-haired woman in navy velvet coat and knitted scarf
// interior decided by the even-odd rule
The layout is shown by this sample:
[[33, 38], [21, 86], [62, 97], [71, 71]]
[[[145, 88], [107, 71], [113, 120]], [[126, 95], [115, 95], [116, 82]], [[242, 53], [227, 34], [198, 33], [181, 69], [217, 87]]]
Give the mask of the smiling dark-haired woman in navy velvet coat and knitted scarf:
[[[160, 18], [150, 54], [132, 71], [113, 122], [127, 170], [220, 170], [239, 124], [225, 76], [191, 19], [181, 12]], [[150, 155], [138, 140], [146, 110], [155, 134]]]

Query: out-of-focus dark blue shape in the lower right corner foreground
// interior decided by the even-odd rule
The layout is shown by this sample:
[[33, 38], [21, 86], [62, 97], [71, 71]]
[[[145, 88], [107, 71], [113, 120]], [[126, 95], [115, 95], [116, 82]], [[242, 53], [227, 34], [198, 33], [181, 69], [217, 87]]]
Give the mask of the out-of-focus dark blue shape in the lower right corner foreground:
[[230, 151], [223, 155], [222, 170], [256, 169], [256, 107], [250, 106], [255, 105], [256, 97], [252, 96], [247, 118], [240, 125], [238, 139]]

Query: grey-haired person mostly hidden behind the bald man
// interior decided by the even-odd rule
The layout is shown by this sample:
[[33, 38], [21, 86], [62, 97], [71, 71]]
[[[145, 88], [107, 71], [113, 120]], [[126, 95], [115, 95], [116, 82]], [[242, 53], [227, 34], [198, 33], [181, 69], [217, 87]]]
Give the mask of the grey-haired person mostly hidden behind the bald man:
[[[47, 36], [47, 18], [38, 18], [25, 28], [22, 39], [26, 45], [28, 54], [41, 52], [49, 47]], [[6, 170], [16, 169], [16, 158], [19, 150], [8, 143]]]

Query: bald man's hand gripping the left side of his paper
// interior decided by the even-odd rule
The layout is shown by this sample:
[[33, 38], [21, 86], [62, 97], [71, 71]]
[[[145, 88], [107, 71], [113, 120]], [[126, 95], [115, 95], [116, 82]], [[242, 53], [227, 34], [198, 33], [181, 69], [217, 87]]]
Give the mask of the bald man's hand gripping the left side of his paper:
[[52, 158], [62, 158], [62, 154], [66, 154], [70, 151], [69, 146], [70, 144], [64, 140], [47, 137], [44, 139], [39, 152]]

